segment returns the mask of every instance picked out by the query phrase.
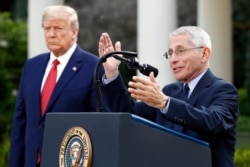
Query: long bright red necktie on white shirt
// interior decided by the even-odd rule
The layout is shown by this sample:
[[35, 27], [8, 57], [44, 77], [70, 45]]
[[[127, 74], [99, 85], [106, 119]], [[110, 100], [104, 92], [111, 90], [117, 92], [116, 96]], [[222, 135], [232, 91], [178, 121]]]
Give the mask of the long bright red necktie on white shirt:
[[60, 62], [55, 59], [53, 61], [53, 67], [51, 68], [48, 77], [44, 83], [42, 94], [41, 94], [41, 116], [44, 115], [45, 109], [47, 107], [47, 104], [49, 102], [50, 96], [53, 92], [53, 89], [56, 85], [56, 76], [57, 76], [57, 65], [60, 64]]

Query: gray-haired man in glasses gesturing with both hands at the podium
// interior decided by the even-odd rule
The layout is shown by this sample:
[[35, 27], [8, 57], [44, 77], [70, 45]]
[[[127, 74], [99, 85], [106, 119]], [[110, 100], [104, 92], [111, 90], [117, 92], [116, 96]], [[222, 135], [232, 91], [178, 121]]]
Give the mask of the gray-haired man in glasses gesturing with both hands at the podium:
[[[121, 50], [120, 42], [113, 47], [109, 35], [103, 33], [99, 55], [114, 50]], [[112, 111], [129, 111], [208, 142], [213, 167], [233, 167], [238, 95], [231, 83], [209, 69], [211, 51], [210, 37], [203, 29], [180, 27], [170, 34], [165, 54], [179, 82], [161, 89], [151, 72], [149, 79], [133, 76], [127, 90], [119, 76], [120, 62], [110, 57], [104, 63], [102, 95]]]

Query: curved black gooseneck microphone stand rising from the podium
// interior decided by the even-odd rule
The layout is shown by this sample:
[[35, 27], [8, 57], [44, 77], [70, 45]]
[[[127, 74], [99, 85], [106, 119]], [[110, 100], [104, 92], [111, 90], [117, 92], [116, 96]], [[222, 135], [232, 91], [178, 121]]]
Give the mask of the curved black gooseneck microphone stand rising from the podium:
[[114, 52], [109, 52], [102, 57], [100, 57], [95, 70], [94, 70], [94, 84], [95, 84], [95, 90], [96, 90], [96, 110], [97, 112], [101, 112], [103, 110], [102, 106], [102, 97], [101, 97], [101, 90], [100, 90], [100, 85], [102, 83], [100, 77], [99, 77], [99, 68], [103, 62], [107, 60], [107, 58], [111, 56], [115, 56], [116, 54], [123, 54], [123, 55], [129, 55], [129, 56], [137, 56], [136, 52], [130, 52], [130, 51], [114, 51]]

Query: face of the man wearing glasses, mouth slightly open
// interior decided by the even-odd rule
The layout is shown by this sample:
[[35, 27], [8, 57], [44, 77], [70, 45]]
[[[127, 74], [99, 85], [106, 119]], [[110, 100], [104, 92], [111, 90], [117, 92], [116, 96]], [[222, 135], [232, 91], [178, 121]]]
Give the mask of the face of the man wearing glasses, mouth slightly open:
[[208, 67], [202, 46], [196, 48], [187, 35], [176, 35], [169, 40], [170, 67], [179, 81], [189, 82]]

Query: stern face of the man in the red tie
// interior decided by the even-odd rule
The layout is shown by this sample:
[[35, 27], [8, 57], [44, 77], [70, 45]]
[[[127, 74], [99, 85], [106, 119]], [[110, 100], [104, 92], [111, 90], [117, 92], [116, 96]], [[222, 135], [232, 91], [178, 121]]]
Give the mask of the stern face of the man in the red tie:
[[44, 36], [48, 49], [60, 56], [74, 44], [77, 30], [72, 30], [66, 19], [46, 19], [43, 22]]

